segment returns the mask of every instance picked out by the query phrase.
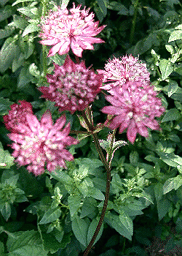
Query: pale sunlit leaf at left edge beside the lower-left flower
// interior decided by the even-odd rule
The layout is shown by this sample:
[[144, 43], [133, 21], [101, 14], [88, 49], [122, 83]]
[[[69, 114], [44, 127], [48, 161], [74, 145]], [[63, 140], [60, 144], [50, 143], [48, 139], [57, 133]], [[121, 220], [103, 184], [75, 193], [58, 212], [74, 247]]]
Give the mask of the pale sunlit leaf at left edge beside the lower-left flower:
[[[1, 102], [1, 99], [0, 99]], [[1, 103], [0, 103], [1, 108]], [[9, 154], [9, 151], [5, 150], [0, 142], [0, 169], [9, 169], [14, 165], [14, 157]]]

